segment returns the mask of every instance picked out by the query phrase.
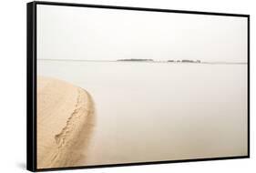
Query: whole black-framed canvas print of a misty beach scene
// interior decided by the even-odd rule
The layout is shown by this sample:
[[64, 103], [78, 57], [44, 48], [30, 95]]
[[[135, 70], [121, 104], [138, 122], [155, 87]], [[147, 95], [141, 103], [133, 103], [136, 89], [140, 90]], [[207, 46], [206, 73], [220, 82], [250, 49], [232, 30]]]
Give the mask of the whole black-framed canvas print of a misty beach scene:
[[250, 15], [27, 4], [27, 169], [250, 157]]

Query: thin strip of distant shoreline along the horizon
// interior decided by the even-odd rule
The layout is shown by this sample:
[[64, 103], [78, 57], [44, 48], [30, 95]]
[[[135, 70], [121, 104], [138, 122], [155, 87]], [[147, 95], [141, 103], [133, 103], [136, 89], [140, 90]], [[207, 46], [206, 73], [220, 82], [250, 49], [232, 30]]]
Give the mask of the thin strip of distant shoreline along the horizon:
[[116, 62], [116, 63], [162, 63], [162, 64], [177, 64], [177, 65], [247, 65], [244, 62], [168, 62], [168, 61], [133, 61], [133, 60], [84, 60], [84, 59], [37, 59], [39, 61], [82, 61], [82, 62]]

